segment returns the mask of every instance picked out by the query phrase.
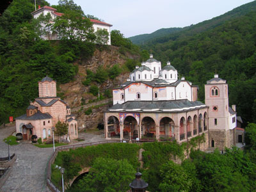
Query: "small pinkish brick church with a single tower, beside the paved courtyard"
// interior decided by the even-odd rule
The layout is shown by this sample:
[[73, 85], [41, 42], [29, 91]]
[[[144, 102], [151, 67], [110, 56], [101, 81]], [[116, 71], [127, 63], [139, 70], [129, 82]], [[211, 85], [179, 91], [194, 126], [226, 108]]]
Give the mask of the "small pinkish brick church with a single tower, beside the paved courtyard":
[[39, 97], [30, 102], [26, 114], [16, 120], [16, 132], [22, 133], [24, 140], [30, 140], [36, 135], [42, 140], [51, 138], [52, 127], [58, 121], [68, 124], [68, 138], [74, 140], [78, 137], [77, 120], [71, 115], [68, 104], [56, 97], [56, 81], [44, 77], [38, 82]]

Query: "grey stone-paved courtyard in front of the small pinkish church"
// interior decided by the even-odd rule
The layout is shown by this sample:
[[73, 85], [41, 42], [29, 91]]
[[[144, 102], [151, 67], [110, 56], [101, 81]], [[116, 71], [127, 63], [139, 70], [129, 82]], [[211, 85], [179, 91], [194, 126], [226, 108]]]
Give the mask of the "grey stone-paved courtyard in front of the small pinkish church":
[[[3, 139], [10, 136], [15, 131], [15, 127], [0, 129], [0, 157], [8, 156], [8, 146]], [[79, 138], [85, 141], [79, 143], [89, 143], [104, 141], [102, 134], [79, 133]], [[46, 187], [46, 165], [52, 154], [52, 148], [38, 148], [29, 143], [10, 146], [10, 154], [17, 155], [10, 177], [0, 189], [1, 192], [11, 191], [47, 191]]]

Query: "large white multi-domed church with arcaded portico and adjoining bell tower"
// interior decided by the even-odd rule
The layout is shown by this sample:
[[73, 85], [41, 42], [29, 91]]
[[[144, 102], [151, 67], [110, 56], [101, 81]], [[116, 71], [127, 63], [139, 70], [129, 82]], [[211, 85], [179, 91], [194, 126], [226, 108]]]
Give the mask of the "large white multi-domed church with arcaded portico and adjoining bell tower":
[[178, 79], [167, 62], [150, 58], [129, 79], [113, 88], [113, 106], [104, 113], [105, 138], [140, 140], [166, 138], [178, 143], [205, 134], [202, 147], [236, 145], [236, 106], [228, 106], [228, 84], [215, 74], [205, 84], [205, 104], [197, 100], [198, 86]]

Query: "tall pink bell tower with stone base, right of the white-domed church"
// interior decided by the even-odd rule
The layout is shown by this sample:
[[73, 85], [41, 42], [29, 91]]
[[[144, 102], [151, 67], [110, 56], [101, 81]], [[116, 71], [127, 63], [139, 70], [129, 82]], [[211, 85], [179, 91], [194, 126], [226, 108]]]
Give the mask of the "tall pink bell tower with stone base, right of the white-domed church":
[[209, 147], [230, 147], [228, 84], [214, 75], [205, 84], [205, 105], [209, 106]]

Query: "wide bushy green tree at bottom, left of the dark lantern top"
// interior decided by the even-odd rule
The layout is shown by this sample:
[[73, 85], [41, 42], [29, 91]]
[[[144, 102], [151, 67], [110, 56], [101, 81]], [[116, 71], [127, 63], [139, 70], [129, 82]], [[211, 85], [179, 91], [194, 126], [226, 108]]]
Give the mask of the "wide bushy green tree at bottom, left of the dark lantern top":
[[95, 159], [88, 176], [79, 180], [79, 191], [115, 192], [127, 191], [135, 171], [127, 159]]

